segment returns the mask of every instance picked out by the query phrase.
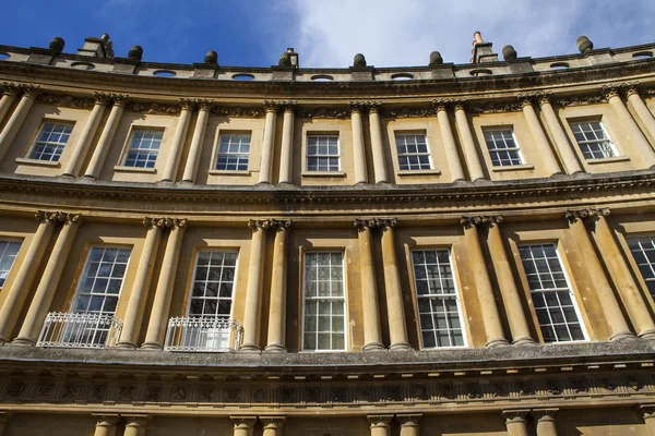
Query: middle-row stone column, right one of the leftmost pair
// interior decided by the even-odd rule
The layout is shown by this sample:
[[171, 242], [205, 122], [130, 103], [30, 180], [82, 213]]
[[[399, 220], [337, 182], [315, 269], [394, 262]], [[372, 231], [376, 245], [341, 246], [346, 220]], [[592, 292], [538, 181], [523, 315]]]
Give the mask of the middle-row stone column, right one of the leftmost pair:
[[67, 265], [68, 256], [75, 239], [75, 233], [80, 227], [82, 218], [79, 214], [61, 214], [60, 220], [63, 220], [63, 227], [57, 237], [57, 242], [52, 247], [48, 264], [41, 276], [38, 288], [34, 293], [32, 303], [25, 320], [21, 327], [17, 338], [13, 341], [19, 346], [34, 346], [38, 340], [38, 335], [43, 327], [44, 320], [50, 310], [50, 304], [55, 298], [55, 292], [61, 279], [61, 272]]

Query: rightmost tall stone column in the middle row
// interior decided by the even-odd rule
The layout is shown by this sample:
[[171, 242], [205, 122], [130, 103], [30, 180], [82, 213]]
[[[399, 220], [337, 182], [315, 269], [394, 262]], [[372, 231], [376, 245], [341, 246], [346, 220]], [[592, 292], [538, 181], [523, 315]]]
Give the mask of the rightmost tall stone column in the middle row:
[[636, 335], [644, 339], [655, 339], [655, 323], [648, 312], [648, 303], [632, 278], [630, 267], [605, 218], [609, 215], [609, 209], [590, 209], [587, 215], [598, 252], [603, 253], [603, 262], [615, 282]]

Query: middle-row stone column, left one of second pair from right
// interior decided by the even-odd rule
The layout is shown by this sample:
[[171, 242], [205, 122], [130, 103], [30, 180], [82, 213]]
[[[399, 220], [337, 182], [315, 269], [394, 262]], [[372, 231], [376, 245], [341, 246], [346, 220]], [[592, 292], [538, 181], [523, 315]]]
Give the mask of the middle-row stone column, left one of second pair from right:
[[489, 272], [487, 271], [487, 263], [485, 262], [478, 237], [477, 226], [483, 223], [483, 217], [464, 217], [460, 222], [464, 226], [464, 239], [469, 255], [468, 262], [475, 274], [477, 295], [483, 313], [483, 324], [485, 325], [485, 332], [487, 335], [486, 347], [493, 348], [508, 346], [509, 343], [502, 331], [502, 324], [500, 323], [500, 314], [498, 312], [498, 305], [496, 304], [493, 288], [491, 288], [491, 280], [489, 279]]

